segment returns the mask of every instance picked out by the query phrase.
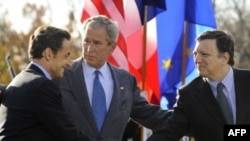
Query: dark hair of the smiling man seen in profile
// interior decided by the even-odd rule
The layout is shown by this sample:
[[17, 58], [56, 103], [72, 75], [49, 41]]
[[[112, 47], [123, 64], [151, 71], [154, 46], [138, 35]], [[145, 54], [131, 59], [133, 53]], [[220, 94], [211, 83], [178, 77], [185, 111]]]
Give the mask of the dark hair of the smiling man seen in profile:
[[52, 26], [40, 26], [30, 36], [29, 58], [42, 58], [42, 53], [46, 48], [51, 48], [56, 54], [61, 49], [63, 40], [70, 40], [70, 38], [71, 36], [66, 30]]

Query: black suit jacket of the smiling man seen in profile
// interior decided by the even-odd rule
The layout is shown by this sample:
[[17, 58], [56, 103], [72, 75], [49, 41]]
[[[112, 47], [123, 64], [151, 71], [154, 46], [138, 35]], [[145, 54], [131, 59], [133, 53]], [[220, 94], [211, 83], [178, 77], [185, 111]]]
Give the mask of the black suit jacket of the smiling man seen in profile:
[[0, 115], [1, 141], [80, 141], [80, 132], [63, 109], [59, 88], [35, 65], [7, 86]]

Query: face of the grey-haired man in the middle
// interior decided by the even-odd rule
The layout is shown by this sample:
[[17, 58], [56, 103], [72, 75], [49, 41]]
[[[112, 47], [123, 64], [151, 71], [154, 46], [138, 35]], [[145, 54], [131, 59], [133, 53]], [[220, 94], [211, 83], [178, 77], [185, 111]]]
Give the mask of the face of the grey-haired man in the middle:
[[103, 66], [108, 56], [115, 49], [116, 45], [108, 43], [107, 36], [105, 26], [95, 29], [87, 27], [83, 33], [84, 61], [96, 69]]

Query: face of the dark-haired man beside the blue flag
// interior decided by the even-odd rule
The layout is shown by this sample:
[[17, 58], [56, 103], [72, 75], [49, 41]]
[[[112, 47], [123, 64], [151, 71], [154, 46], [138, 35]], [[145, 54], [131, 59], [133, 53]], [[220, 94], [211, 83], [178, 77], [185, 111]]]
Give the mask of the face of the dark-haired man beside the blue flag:
[[194, 48], [194, 62], [200, 76], [216, 80], [221, 68], [226, 64], [223, 54], [219, 54], [214, 39], [198, 41]]

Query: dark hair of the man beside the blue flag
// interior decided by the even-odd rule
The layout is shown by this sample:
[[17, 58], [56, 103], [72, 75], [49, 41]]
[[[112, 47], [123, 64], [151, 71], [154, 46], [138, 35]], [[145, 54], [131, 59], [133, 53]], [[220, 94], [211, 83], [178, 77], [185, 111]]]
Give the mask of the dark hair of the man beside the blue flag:
[[215, 39], [219, 53], [228, 52], [230, 55], [228, 64], [234, 65], [234, 42], [229, 34], [220, 30], [205, 31], [196, 40], [201, 41], [205, 39]]

